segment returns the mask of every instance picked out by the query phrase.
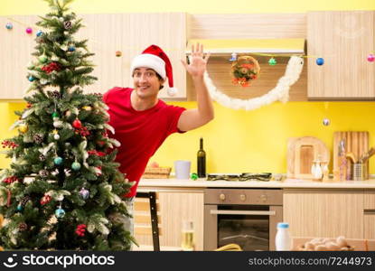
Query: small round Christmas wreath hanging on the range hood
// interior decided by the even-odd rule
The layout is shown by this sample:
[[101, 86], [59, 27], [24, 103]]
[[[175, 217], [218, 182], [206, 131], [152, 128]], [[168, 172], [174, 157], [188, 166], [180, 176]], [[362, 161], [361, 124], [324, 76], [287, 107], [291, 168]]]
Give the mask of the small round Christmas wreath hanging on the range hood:
[[251, 56], [240, 56], [231, 66], [232, 82], [241, 87], [248, 87], [250, 81], [257, 79], [260, 71], [258, 61]]

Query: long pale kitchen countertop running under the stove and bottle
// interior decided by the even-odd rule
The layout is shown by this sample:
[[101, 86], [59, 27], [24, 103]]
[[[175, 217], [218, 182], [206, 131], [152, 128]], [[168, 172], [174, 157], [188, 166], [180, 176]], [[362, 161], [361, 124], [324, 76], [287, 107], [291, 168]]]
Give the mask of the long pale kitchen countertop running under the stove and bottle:
[[286, 179], [283, 181], [245, 181], [245, 182], [229, 182], [229, 181], [206, 181], [205, 179], [177, 180], [171, 179], [141, 179], [139, 189], [147, 189], [150, 187], [158, 188], [334, 188], [334, 189], [375, 189], [375, 180], [367, 181], [345, 181], [345, 182], [315, 182], [312, 180]]

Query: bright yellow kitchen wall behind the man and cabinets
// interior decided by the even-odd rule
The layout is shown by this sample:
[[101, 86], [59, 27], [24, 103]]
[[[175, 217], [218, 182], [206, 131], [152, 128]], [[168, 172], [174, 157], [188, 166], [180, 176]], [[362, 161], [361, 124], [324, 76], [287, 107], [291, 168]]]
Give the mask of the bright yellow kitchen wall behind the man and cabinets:
[[[219, 4], [222, 2], [222, 4]], [[139, 4], [140, 3], [140, 4]], [[251, 3], [251, 5], [249, 4]], [[301, 13], [308, 10], [375, 9], [375, 1], [123, 1], [76, 0], [77, 13], [135, 13], [135, 12], [188, 12], [188, 13]], [[48, 11], [42, 0], [2, 0], [0, 15], [44, 14]], [[192, 108], [194, 102], [173, 103]], [[11, 135], [8, 127], [14, 122], [14, 110], [24, 103], [0, 103], [0, 138]], [[331, 120], [323, 126], [324, 117]], [[286, 173], [286, 141], [290, 136], [313, 135], [333, 148], [333, 132], [338, 130], [367, 130], [370, 145], [375, 145], [374, 102], [289, 102], [274, 103], [255, 111], [236, 111], [215, 104], [215, 119], [207, 126], [184, 135], [171, 135], [152, 158], [161, 165], [173, 165], [177, 159], [192, 160], [199, 137], [205, 140], [209, 173], [273, 172]], [[0, 158], [4, 157], [0, 156]], [[8, 164], [0, 159], [0, 167]], [[370, 173], [375, 173], [374, 158]]]

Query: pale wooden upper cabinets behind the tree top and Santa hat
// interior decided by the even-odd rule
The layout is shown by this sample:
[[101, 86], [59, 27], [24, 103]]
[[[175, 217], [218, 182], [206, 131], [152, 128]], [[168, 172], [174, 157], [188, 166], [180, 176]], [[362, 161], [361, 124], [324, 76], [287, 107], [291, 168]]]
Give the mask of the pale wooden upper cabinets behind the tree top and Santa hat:
[[[96, 65], [92, 72], [98, 81], [87, 86], [87, 92], [104, 93], [113, 87], [133, 87], [130, 64], [133, 58], [151, 44], [160, 46], [169, 56], [173, 66], [176, 99], [186, 98], [186, 73], [180, 60], [186, 48], [186, 14], [80, 14], [85, 27], [75, 38], [88, 39], [89, 51], [94, 52], [92, 61]], [[12, 16], [14, 28], [0, 28], [0, 99], [22, 99], [30, 82], [26, 79], [27, 64], [35, 46], [34, 38], [39, 21], [36, 15]], [[9, 22], [0, 17], [0, 25]], [[21, 22], [21, 23], [18, 23]], [[23, 25], [33, 26], [33, 34], [25, 33]], [[120, 51], [121, 56], [116, 52]], [[160, 98], [168, 95], [168, 83], [160, 91]], [[173, 99], [172, 98], [172, 99]]]

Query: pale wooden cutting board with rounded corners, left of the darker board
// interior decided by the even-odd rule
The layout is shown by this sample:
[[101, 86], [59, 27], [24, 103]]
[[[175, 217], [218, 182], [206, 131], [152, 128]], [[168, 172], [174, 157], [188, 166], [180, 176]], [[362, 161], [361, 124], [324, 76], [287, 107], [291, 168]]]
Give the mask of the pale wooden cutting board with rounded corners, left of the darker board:
[[286, 152], [287, 178], [313, 179], [311, 166], [318, 156], [322, 162], [329, 164], [330, 152], [322, 140], [314, 136], [289, 138]]

